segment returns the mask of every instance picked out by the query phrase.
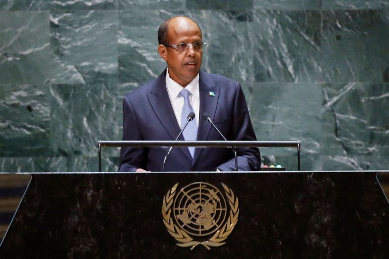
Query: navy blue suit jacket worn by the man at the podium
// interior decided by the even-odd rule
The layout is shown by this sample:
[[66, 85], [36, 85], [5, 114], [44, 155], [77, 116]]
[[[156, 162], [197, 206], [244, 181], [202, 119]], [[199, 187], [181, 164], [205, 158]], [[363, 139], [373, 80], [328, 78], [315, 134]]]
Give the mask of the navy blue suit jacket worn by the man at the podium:
[[[200, 116], [197, 140], [223, 140], [201, 114], [208, 113], [228, 140], [256, 140], [245, 96], [240, 84], [220, 75], [200, 74]], [[214, 92], [212, 96], [210, 92]], [[124, 97], [123, 140], [174, 140], [180, 126], [166, 89], [166, 70], [155, 80], [137, 87]], [[184, 140], [181, 136], [179, 140]], [[119, 171], [142, 168], [162, 171], [167, 148], [121, 148]], [[257, 171], [258, 148], [238, 148], [239, 171]], [[187, 147], [174, 147], [165, 171], [233, 171], [235, 162], [229, 148], [196, 148], [193, 159]]]

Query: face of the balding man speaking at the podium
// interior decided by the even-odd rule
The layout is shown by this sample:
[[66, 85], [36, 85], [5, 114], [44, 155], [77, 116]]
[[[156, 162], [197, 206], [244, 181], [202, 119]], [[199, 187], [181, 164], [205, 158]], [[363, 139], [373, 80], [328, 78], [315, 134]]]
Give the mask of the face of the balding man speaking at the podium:
[[[169, 22], [169, 41], [167, 44], [192, 44], [202, 42], [200, 28], [193, 21], [178, 17]], [[183, 52], [172, 47], [159, 46], [161, 57], [167, 62], [171, 79], [185, 87], [199, 73], [203, 59], [203, 51], [196, 51], [192, 46]]]

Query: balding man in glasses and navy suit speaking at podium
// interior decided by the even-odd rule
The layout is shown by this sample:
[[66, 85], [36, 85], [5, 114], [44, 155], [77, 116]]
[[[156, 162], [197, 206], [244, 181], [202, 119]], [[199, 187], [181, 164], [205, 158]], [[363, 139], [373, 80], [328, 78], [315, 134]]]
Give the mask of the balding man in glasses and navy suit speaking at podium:
[[[228, 140], [256, 140], [245, 96], [240, 84], [200, 70], [202, 32], [187, 17], [173, 17], [158, 31], [158, 52], [167, 69], [124, 97], [123, 140], [174, 140], [190, 112], [179, 140], [223, 140], [202, 118], [208, 113]], [[239, 171], [259, 169], [258, 148], [237, 148]], [[162, 147], [121, 148], [119, 171], [162, 171], [167, 149]], [[229, 148], [173, 148], [165, 171], [233, 171], [234, 155]]]

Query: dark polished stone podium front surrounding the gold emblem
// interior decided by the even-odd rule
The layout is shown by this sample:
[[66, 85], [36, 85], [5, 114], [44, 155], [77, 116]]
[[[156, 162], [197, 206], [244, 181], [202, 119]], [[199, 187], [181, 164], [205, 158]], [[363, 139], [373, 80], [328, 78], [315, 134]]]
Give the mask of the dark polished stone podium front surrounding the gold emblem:
[[[33, 174], [0, 258], [389, 258], [377, 172]], [[239, 200], [221, 247], [178, 247], [167, 191], [207, 182]]]

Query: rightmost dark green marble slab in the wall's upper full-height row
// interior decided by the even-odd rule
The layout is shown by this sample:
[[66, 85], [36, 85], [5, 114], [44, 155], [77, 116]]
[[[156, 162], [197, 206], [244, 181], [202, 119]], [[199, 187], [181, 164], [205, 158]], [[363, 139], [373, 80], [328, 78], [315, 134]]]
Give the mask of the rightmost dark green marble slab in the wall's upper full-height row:
[[325, 82], [388, 82], [389, 12], [323, 11]]

